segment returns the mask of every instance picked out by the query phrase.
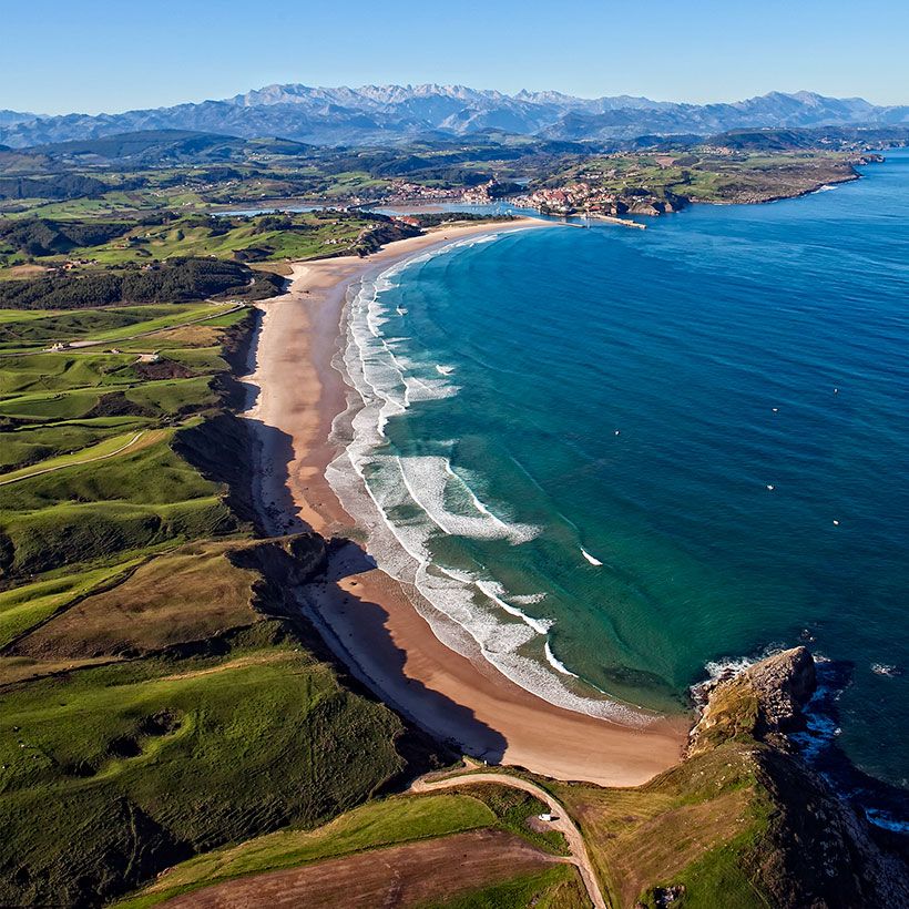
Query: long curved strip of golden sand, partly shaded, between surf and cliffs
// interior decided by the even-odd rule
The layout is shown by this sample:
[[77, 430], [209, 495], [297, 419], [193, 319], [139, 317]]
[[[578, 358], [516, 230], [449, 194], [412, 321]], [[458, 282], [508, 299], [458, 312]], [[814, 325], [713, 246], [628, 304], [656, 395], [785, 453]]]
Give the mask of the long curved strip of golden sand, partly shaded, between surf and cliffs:
[[[346, 408], [346, 385], [331, 366], [348, 286], [436, 245], [503, 229], [552, 226], [524, 219], [448, 228], [389, 244], [368, 258], [296, 264], [288, 294], [258, 304], [264, 313], [247, 377], [247, 412], [258, 448], [256, 491], [275, 533], [351, 534], [353, 521], [325, 479], [337, 453], [329, 436]], [[257, 394], [256, 394], [257, 390]], [[445, 646], [407, 592], [372, 566], [356, 544], [331, 558], [326, 583], [304, 606], [351, 673], [436, 736], [467, 754], [559, 779], [607, 786], [644, 783], [677, 763], [686, 717], [657, 717], [630, 728], [556, 707], [480, 658]]]

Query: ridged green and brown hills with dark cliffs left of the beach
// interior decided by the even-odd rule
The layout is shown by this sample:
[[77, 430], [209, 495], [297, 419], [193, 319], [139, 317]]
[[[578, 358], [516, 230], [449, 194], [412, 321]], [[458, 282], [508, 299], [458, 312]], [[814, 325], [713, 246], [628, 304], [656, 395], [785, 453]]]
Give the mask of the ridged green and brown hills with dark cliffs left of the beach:
[[[0, 317], [0, 902], [89, 905], [323, 823], [413, 752], [288, 617], [323, 541], [255, 539], [253, 311], [33, 315]], [[40, 353], [61, 336], [99, 343]]]

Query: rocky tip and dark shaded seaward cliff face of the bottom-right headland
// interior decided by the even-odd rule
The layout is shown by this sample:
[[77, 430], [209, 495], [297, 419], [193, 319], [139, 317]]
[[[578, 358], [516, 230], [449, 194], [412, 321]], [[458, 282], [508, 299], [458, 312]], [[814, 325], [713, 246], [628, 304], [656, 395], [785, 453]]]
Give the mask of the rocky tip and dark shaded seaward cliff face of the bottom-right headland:
[[[711, 686], [688, 762], [736, 752], [753, 762], [767, 825], [743, 856], [779, 907], [909, 906], [909, 869], [871, 826], [804, 763], [786, 733], [804, 728], [816, 686], [806, 647], [794, 647]], [[744, 754], [743, 754], [744, 753]]]

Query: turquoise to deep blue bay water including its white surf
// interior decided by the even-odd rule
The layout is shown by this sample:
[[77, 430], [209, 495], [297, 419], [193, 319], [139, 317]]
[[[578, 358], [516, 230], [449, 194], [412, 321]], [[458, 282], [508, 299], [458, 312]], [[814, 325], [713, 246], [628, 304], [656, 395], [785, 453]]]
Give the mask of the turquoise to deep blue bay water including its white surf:
[[907, 784], [909, 154], [647, 231], [463, 243], [350, 311], [367, 406], [333, 482], [366, 483], [370, 551], [461, 645], [634, 722], [810, 640], [852, 664], [839, 744]]

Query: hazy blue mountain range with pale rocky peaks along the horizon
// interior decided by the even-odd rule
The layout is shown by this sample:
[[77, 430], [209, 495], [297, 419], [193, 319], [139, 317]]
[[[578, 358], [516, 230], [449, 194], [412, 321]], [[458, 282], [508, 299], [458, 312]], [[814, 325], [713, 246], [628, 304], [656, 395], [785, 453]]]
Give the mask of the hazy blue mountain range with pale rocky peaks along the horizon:
[[621, 95], [583, 99], [560, 92], [509, 95], [463, 85], [268, 85], [223, 101], [120, 114], [44, 116], [0, 111], [0, 144], [27, 147], [139, 130], [194, 130], [242, 137], [283, 136], [314, 144], [370, 144], [486, 130], [551, 140], [711, 135], [728, 130], [909, 124], [909, 105], [860, 98], [770, 92], [735, 103], [685, 104]]

